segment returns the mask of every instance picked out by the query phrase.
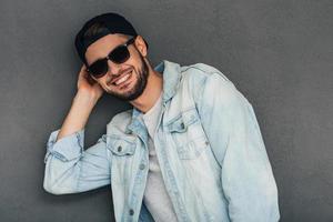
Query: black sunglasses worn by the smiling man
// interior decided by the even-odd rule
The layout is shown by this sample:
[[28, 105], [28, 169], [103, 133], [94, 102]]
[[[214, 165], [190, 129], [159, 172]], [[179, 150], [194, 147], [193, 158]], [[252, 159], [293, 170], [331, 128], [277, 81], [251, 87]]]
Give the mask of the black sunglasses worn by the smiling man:
[[124, 44], [115, 47], [108, 57], [99, 59], [87, 68], [87, 71], [94, 78], [101, 78], [107, 74], [109, 70], [108, 60], [111, 60], [114, 63], [123, 63], [130, 58], [130, 51], [128, 46], [133, 43], [135, 37], [129, 39]]

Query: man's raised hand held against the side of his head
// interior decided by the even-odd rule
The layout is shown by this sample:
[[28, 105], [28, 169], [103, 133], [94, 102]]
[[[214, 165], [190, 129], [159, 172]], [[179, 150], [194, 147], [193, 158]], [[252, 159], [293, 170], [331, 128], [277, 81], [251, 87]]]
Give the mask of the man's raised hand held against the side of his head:
[[79, 73], [78, 91], [84, 92], [97, 100], [101, 98], [104, 91], [101, 85], [91, 78], [84, 64], [81, 67]]

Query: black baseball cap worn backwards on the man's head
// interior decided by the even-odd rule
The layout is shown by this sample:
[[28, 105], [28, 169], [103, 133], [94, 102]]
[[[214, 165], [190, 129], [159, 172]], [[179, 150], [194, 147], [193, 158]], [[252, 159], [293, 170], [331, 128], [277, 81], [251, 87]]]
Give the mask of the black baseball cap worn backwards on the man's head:
[[[83, 37], [85, 31], [95, 23], [103, 24], [107, 28], [107, 30], [95, 34], [93, 38], [90, 38], [89, 40], [84, 39]], [[81, 30], [78, 32], [75, 37], [75, 48], [80, 59], [82, 60], [82, 62], [84, 62], [85, 65], [87, 65], [87, 60], [84, 54], [88, 47], [93, 42], [95, 42], [97, 40], [99, 40], [100, 38], [113, 33], [122, 33], [132, 37], [138, 36], [134, 27], [123, 16], [114, 12], [99, 14], [90, 19], [83, 24], [83, 27], [81, 28]], [[147, 42], [145, 44], [148, 47]]]

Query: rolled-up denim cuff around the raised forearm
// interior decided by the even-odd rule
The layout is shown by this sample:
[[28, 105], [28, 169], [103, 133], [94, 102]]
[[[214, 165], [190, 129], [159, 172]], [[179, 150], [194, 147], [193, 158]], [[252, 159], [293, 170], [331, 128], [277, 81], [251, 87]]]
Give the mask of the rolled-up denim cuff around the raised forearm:
[[51, 132], [49, 137], [44, 163], [47, 163], [50, 154], [67, 162], [80, 158], [83, 152], [84, 129], [63, 137], [56, 142], [59, 131], [60, 129]]

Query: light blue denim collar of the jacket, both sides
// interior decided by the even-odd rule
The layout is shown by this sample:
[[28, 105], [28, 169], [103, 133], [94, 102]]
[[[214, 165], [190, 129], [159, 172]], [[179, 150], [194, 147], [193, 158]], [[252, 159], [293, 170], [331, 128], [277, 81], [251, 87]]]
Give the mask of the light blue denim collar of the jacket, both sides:
[[[155, 68], [155, 71], [161, 72], [163, 75], [163, 90], [162, 90], [162, 103], [165, 103], [174, 95], [176, 89], [180, 83], [181, 78], [181, 67], [175, 62], [171, 62], [168, 60], [162, 60]], [[135, 132], [137, 134], [140, 133], [142, 130], [142, 123], [138, 120], [141, 111], [133, 107], [132, 110], [132, 120], [131, 123], [127, 128], [127, 132]], [[142, 135], [145, 137], [145, 135]]]

